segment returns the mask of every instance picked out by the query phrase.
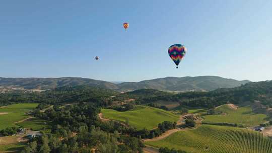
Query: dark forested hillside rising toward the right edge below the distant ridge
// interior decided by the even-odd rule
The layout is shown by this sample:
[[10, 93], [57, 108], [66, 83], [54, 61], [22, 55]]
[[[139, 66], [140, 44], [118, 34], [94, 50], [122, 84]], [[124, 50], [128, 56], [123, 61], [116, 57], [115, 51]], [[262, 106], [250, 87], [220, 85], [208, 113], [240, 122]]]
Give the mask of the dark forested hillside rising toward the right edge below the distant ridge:
[[[156, 94], [153, 94], [156, 93]], [[166, 92], [149, 92], [149, 95], [140, 92], [127, 94], [133, 96], [136, 101], [142, 104], [153, 103], [157, 101], [174, 101], [181, 105], [190, 107], [214, 108], [229, 102], [239, 104], [245, 101], [260, 101], [263, 105], [272, 108], [272, 82], [247, 83], [235, 88], [222, 88], [210, 92], [186, 92], [179, 94], [170, 94]]]

